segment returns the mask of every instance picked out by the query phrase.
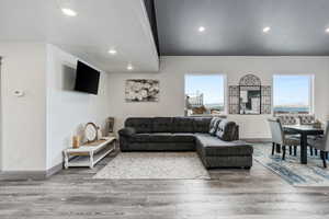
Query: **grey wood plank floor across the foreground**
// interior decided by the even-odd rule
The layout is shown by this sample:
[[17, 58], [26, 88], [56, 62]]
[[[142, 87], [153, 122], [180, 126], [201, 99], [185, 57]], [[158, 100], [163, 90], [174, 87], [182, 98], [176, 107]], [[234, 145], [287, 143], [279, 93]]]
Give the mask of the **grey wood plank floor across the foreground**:
[[46, 181], [0, 182], [1, 219], [292, 219], [326, 218], [329, 188], [296, 188], [259, 163], [220, 170], [217, 180], [92, 180], [93, 170], [69, 169]]

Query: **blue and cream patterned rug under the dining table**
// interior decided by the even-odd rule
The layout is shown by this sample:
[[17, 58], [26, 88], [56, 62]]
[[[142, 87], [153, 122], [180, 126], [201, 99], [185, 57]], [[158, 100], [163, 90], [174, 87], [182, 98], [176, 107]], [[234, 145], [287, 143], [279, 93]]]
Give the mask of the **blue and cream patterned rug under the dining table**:
[[294, 157], [287, 150], [284, 161], [281, 153], [272, 155], [271, 151], [270, 143], [254, 145], [253, 158], [293, 186], [329, 186], [329, 169], [322, 168], [319, 155], [308, 154], [308, 163], [305, 165], [300, 164], [299, 151]]

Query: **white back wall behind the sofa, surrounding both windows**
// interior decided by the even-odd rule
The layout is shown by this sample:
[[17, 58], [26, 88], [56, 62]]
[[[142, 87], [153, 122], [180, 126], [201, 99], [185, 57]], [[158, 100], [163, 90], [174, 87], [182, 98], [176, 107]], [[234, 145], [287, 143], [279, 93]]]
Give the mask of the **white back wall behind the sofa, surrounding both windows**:
[[[184, 76], [188, 73], [223, 73], [228, 85], [253, 73], [263, 85], [272, 85], [273, 74], [315, 74], [315, 113], [325, 119], [329, 115], [329, 57], [162, 57], [158, 73], [111, 73], [110, 107], [116, 118], [115, 128], [129, 116], [180, 116], [184, 113]], [[126, 79], [159, 79], [158, 103], [126, 103]], [[241, 138], [269, 138], [265, 118], [270, 115], [229, 115], [240, 125]]]

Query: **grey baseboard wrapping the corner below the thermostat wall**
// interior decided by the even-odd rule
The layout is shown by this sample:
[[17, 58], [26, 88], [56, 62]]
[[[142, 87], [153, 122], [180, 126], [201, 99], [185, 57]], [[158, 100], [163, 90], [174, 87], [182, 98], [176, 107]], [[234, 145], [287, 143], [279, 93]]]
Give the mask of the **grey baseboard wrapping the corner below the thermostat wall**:
[[50, 177], [61, 170], [63, 163], [58, 163], [47, 171], [2, 171], [0, 172], [0, 181], [42, 181]]

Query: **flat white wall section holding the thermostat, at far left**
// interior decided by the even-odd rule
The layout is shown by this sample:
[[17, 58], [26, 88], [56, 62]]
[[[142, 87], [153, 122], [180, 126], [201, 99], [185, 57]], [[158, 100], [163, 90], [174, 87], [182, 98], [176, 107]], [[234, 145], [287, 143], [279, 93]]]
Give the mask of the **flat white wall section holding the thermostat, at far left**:
[[[46, 168], [46, 46], [0, 42], [2, 171]], [[16, 97], [15, 90], [25, 95]]]

